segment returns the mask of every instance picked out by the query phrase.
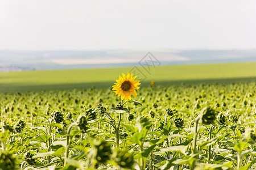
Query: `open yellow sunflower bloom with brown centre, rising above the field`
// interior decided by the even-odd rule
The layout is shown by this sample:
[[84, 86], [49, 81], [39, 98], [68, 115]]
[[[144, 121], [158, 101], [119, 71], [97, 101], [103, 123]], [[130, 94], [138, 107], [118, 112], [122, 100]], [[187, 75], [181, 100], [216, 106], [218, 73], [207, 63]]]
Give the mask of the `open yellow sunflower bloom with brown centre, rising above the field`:
[[127, 75], [123, 74], [123, 77], [119, 76], [119, 79], [117, 79], [117, 83], [115, 83], [113, 87], [113, 91], [115, 92], [115, 95], [117, 97], [121, 96], [121, 99], [124, 98], [126, 101], [131, 100], [131, 95], [134, 97], [137, 96], [137, 93], [135, 90], [139, 89], [139, 80], [134, 80], [137, 75], [133, 77], [133, 74], [127, 73]]

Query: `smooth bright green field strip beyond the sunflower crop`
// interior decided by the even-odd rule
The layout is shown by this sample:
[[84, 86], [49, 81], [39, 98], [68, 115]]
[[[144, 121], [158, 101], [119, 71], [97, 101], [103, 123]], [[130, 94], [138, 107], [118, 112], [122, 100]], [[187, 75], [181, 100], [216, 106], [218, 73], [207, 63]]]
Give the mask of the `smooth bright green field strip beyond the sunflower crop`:
[[[0, 92], [66, 90], [72, 88], [110, 88], [121, 73], [133, 67], [106, 69], [47, 70], [0, 73]], [[256, 80], [256, 62], [174, 65], [150, 67], [142, 86], [202, 82], [237, 82]]]

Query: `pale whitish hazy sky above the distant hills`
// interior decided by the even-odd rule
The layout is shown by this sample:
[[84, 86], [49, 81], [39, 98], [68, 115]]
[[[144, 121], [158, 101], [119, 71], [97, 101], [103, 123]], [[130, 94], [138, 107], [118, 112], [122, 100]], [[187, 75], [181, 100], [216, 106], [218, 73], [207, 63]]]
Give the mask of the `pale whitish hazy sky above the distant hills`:
[[256, 49], [255, 0], [0, 0], [0, 49]]

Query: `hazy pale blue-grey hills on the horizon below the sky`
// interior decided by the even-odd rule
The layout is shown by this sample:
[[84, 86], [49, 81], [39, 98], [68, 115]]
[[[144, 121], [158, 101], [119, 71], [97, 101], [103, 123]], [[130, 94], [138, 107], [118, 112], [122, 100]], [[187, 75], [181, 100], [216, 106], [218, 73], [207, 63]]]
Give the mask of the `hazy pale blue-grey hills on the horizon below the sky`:
[[0, 71], [140, 66], [139, 63], [147, 61], [156, 63], [150, 60], [157, 61], [159, 65], [254, 62], [256, 50], [0, 50]]

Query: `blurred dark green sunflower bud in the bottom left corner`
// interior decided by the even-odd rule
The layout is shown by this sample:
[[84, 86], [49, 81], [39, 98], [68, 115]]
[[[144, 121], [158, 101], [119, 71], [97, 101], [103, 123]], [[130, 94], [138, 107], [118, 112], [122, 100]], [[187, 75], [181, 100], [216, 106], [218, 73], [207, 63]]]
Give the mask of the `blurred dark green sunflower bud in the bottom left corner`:
[[13, 170], [15, 169], [16, 159], [13, 154], [2, 152], [0, 154], [0, 169], [2, 170]]

